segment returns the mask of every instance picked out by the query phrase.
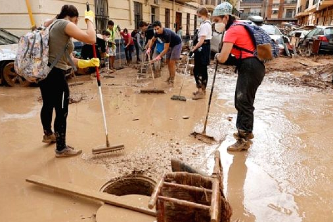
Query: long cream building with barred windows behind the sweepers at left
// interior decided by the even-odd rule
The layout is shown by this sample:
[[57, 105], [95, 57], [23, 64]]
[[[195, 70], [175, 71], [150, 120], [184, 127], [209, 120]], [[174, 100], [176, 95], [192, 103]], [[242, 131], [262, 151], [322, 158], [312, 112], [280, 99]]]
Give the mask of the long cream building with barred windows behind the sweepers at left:
[[[132, 31], [138, 28], [140, 21], [154, 22], [159, 20], [162, 24], [174, 31], [180, 27], [183, 35], [193, 34], [199, 26], [196, 10], [200, 0], [88, 0], [91, 10], [96, 14], [96, 29], [101, 32], [107, 28], [108, 20], [113, 20], [121, 28]], [[202, 2], [213, 10], [218, 1], [207, 0]], [[40, 26], [46, 19], [51, 19], [60, 12], [65, 4], [77, 7], [80, 13], [79, 27], [86, 27], [83, 19], [86, 10], [86, 1], [83, 0], [30, 0], [33, 21]], [[0, 27], [18, 36], [28, 32], [32, 23], [29, 18], [25, 0], [0, 0]]]

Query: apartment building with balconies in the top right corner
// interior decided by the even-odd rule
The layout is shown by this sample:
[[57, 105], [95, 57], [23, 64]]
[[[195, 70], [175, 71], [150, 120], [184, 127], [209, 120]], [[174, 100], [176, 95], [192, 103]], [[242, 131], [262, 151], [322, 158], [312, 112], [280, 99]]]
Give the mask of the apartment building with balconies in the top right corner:
[[333, 1], [298, 0], [295, 18], [301, 25], [333, 25]]

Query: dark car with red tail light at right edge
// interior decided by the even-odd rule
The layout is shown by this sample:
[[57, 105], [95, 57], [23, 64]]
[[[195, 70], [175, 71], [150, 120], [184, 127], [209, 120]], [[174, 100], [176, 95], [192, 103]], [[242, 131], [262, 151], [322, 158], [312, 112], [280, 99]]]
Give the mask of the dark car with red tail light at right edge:
[[319, 54], [333, 53], [333, 26], [317, 26], [304, 36], [301, 48], [307, 47], [309, 42], [320, 40]]

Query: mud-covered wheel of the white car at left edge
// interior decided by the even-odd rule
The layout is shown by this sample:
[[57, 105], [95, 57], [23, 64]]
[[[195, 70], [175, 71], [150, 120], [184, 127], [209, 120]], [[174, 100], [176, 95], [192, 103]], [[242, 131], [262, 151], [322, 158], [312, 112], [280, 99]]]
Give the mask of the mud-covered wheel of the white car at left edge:
[[5, 82], [11, 87], [13, 86], [28, 87], [30, 85], [29, 81], [27, 81], [26, 79], [15, 73], [14, 62], [7, 63], [3, 67], [2, 74]]

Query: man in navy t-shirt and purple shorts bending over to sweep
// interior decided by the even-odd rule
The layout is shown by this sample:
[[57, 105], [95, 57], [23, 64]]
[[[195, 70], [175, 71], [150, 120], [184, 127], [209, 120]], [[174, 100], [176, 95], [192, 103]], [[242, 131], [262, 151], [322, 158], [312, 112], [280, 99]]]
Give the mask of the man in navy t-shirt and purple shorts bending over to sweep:
[[176, 61], [179, 60], [182, 49], [181, 39], [175, 32], [170, 29], [163, 28], [160, 21], [155, 21], [153, 23], [153, 28], [155, 34], [152, 41], [150, 41], [147, 54], [150, 54], [151, 48], [156, 39], [160, 38], [164, 43], [164, 50], [153, 61], [159, 61], [164, 55], [166, 55], [166, 63], [169, 70], [169, 78], [166, 82], [168, 84], [173, 84], [174, 76], [176, 74]]

